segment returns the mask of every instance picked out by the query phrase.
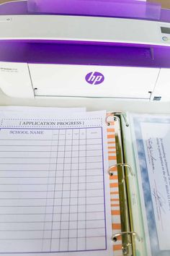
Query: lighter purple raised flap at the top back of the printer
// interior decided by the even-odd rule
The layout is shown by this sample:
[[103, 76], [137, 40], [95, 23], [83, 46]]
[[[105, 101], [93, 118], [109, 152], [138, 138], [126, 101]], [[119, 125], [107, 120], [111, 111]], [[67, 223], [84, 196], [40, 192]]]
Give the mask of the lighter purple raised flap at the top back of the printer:
[[161, 4], [136, 0], [27, 0], [30, 13], [128, 17], [158, 20]]

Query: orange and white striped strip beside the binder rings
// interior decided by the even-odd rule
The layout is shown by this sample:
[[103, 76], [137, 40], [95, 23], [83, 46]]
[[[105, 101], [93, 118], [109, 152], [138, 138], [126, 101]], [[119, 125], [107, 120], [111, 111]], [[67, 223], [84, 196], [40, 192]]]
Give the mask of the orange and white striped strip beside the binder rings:
[[[116, 145], [115, 145], [115, 122], [109, 121], [109, 128], [107, 128], [107, 142], [108, 142], [108, 158], [109, 166], [115, 165], [116, 160]], [[109, 176], [110, 187], [110, 202], [111, 202], [111, 214], [112, 214], [112, 233], [121, 232], [120, 222], [120, 200], [119, 200], [119, 187], [117, 168], [111, 169], [114, 171], [113, 176]], [[114, 256], [122, 256], [122, 239], [121, 236], [117, 238], [117, 242], [113, 244]]]

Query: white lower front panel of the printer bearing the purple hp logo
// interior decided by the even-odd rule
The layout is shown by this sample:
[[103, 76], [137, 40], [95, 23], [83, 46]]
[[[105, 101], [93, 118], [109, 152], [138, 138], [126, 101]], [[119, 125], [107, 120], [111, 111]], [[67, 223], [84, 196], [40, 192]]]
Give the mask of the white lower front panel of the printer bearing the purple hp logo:
[[[150, 100], [169, 69], [0, 63], [1, 89], [17, 98], [82, 97]], [[159, 79], [158, 79], [159, 78]], [[24, 80], [24, 84], [23, 84]], [[158, 89], [157, 89], [158, 90]], [[162, 93], [157, 93], [160, 96]], [[166, 95], [162, 96], [164, 100]]]

